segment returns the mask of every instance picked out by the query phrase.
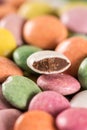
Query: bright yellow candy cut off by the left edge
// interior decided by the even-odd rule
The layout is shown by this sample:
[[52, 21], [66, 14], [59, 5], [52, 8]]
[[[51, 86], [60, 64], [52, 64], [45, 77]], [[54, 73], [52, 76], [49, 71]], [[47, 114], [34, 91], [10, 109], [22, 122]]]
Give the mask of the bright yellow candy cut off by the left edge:
[[0, 28], [0, 56], [9, 56], [16, 46], [16, 41], [11, 32]]

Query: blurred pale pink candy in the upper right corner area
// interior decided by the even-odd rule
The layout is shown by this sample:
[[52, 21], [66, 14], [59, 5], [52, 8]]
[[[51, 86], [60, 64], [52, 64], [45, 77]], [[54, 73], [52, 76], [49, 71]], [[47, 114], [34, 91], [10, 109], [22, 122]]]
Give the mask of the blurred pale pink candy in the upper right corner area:
[[61, 21], [71, 31], [87, 34], [87, 7], [76, 7], [61, 16]]

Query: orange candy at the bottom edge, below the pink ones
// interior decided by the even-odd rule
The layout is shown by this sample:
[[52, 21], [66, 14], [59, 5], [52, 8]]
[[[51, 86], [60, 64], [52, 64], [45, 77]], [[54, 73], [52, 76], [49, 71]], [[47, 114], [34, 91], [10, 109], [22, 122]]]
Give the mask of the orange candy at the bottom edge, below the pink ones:
[[54, 118], [44, 111], [28, 111], [16, 121], [14, 130], [58, 130]]

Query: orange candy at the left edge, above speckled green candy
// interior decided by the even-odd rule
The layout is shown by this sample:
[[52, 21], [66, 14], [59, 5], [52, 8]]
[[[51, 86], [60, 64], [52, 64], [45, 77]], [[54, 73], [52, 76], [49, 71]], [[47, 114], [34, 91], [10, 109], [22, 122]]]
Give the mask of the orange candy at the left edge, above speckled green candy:
[[22, 70], [10, 59], [0, 56], [0, 82], [11, 75], [23, 75]]

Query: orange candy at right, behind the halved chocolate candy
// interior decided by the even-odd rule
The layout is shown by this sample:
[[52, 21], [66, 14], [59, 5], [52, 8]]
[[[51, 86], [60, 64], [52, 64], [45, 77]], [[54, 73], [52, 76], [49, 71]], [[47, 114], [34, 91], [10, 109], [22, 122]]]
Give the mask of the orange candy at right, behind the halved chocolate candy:
[[60, 43], [55, 50], [63, 53], [71, 61], [67, 73], [77, 76], [81, 61], [87, 57], [87, 40], [82, 37], [71, 37]]

